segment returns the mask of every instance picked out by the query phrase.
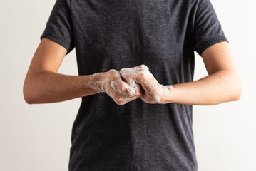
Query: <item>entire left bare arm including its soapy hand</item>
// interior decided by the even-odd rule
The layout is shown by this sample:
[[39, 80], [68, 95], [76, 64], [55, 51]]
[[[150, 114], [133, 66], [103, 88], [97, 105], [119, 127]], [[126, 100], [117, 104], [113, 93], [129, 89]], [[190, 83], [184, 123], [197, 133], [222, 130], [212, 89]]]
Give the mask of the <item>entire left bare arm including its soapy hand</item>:
[[[48, 38], [42, 39], [24, 81], [26, 103], [55, 103], [106, 92], [118, 105], [123, 105], [129, 101], [124, 99], [134, 100], [140, 95], [138, 92], [130, 92], [115, 70], [88, 76], [66, 76], [57, 73], [66, 52], [66, 48], [58, 43]], [[105, 78], [108, 78], [108, 81]], [[110, 81], [117, 86], [111, 86]]]

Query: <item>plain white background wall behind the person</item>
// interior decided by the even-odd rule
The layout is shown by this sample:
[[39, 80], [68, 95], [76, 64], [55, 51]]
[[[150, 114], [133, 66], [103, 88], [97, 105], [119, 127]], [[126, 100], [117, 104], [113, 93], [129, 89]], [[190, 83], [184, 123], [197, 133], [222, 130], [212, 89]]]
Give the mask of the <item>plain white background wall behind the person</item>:
[[[71, 128], [81, 99], [27, 105], [22, 86], [53, 8], [53, 0], [1, 0], [0, 170], [68, 170]], [[256, 170], [256, 3], [212, 0], [242, 78], [242, 98], [193, 106], [198, 171]], [[207, 76], [196, 53], [195, 79]], [[59, 73], [78, 75], [76, 53]]]

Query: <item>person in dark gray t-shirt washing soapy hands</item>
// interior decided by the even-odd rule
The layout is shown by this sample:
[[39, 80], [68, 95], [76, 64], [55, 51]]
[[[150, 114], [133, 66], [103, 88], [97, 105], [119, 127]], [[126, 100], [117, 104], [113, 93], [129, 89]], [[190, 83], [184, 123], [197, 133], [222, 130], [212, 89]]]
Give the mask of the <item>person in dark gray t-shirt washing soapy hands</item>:
[[[26, 103], [81, 98], [69, 171], [195, 171], [193, 105], [240, 99], [209, 0], [56, 0], [24, 81]], [[58, 73], [76, 49], [78, 76]], [[193, 81], [195, 54], [208, 76]]]

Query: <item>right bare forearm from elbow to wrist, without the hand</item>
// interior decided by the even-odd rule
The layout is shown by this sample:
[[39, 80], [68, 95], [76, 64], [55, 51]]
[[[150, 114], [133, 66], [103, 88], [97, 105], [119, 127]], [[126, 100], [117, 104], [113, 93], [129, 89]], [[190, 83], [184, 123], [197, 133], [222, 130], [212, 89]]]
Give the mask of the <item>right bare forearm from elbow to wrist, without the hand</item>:
[[217, 71], [198, 81], [172, 86], [172, 91], [165, 96], [165, 103], [216, 105], [238, 100], [241, 94], [238, 74], [227, 70]]

